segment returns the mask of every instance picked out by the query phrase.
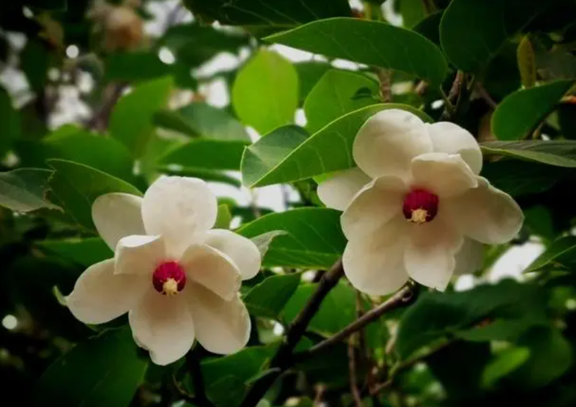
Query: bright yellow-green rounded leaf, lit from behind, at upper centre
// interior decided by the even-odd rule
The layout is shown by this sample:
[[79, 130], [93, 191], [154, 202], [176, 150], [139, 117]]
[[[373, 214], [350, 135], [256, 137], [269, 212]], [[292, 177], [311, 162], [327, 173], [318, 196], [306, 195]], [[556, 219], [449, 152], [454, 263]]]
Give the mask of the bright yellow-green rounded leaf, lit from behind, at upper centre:
[[298, 107], [296, 69], [273, 51], [258, 51], [236, 76], [232, 104], [240, 120], [260, 134], [293, 123]]

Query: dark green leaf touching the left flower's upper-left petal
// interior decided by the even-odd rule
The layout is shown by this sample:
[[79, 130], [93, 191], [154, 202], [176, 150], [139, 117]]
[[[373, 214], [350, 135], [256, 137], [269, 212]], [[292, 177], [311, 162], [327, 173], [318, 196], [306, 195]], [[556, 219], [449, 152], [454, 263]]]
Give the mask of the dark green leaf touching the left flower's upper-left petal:
[[48, 164], [55, 170], [49, 180], [51, 194], [66, 214], [88, 230], [95, 231], [92, 202], [100, 195], [113, 192], [142, 195], [129, 183], [90, 166], [63, 159], [50, 159]]

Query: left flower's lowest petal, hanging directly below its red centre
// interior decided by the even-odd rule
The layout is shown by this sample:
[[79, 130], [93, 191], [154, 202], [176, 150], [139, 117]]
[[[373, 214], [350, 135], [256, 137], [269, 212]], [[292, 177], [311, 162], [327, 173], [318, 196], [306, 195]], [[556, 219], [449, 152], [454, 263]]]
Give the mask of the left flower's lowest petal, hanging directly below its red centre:
[[187, 289], [176, 296], [163, 296], [149, 288], [128, 313], [136, 344], [147, 349], [157, 365], [175, 362], [194, 344], [194, 323], [185, 298]]

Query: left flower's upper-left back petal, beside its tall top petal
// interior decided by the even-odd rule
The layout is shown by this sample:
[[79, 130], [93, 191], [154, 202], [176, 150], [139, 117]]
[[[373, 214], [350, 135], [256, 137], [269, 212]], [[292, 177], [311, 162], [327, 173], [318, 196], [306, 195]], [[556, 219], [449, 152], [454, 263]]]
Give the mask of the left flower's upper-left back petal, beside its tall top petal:
[[146, 234], [141, 206], [142, 198], [127, 193], [101, 195], [92, 203], [92, 221], [112, 250], [124, 236]]

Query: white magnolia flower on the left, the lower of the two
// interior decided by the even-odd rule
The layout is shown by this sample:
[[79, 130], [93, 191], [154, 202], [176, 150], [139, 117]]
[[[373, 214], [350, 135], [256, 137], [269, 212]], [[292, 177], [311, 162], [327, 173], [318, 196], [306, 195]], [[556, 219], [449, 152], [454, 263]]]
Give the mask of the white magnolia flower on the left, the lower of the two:
[[250, 317], [238, 297], [260, 253], [252, 241], [213, 229], [216, 197], [197, 178], [161, 177], [144, 198], [97, 198], [92, 219], [115, 251], [89, 267], [67, 303], [78, 320], [102, 324], [128, 312], [136, 343], [154, 363], [184, 356], [195, 339], [214, 353], [243, 348]]

